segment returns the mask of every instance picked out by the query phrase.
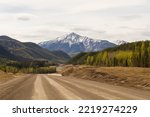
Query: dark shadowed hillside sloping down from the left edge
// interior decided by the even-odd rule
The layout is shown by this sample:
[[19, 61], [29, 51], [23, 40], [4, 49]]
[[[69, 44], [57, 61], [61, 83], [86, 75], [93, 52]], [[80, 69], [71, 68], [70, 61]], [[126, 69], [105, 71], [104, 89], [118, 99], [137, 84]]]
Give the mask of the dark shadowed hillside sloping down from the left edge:
[[[70, 59], [70, 57], [61, 51], [61, 56], [57, 52], [51, 52], [47, 49], [41, 48], [35, 43], [22, 43], [8, 36], [0, 36], [0, 57], [15, 61], [52, 61], [56, 63], [63, 63]], [[62, 57], [63, 56], [63, 57]]]

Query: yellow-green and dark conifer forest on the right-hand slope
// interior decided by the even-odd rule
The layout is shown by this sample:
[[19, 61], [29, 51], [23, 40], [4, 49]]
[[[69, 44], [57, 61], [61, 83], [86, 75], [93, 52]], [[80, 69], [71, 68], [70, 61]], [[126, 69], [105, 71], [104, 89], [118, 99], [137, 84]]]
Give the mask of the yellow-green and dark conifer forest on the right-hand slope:
[[127, 43], [101, 52], [80, 53], [69, 63], [94, 66], [150, 67], [150, 41]]

